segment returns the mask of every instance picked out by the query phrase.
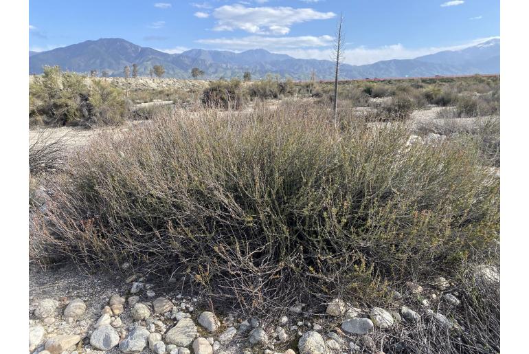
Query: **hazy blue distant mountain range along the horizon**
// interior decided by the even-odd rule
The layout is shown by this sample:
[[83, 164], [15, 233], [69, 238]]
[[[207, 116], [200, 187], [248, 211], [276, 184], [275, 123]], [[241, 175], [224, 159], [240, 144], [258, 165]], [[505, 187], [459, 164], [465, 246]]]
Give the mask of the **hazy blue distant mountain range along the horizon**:
[[[341, 66], [340, 78], [390, 78], [462, 74], [499, 74], [499, 38], [457, 51], [444, 51], [414, 59], [383, 60], [368, 65]], [[193, 67], [205, 72], [203, 78], [242, 77], [250, 71], [253, 78], [278, 74], [295, 80], [306, 80], [312, 71], [318, 79], [333, 78], [334, 63], [330, 60], [297, 59], [274, 54], [265, 49], [235, 53], [222, 50], [190, 49], [168, 54], [141, 47], [122, 38], [101, 38], [47, 52], [30, 52], [30, 74], [41, 74], [44, 65], [87, 73], [92, 69], [123, 76], [125, 65], [138, 65], [138, 74], [147, 76], [153, 65], [163, 65], [165, 77], [190, 78]]]

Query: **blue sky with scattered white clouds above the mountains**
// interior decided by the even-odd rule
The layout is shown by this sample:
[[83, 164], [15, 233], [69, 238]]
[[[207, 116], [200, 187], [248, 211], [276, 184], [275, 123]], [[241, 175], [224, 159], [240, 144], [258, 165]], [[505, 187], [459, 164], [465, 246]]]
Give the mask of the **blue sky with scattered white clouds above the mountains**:
[[123, 38], [168, 53], [264, 48], [329, 59], [340, 14], [352, 65], [499, 38], [499, 0], [30, 0], [30, 50]]

